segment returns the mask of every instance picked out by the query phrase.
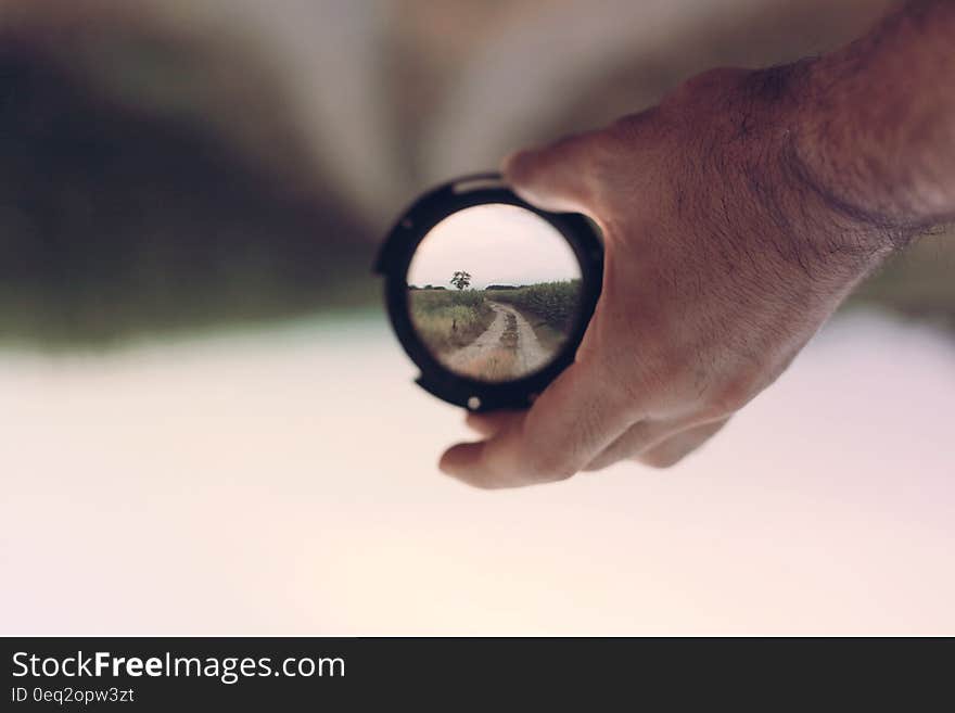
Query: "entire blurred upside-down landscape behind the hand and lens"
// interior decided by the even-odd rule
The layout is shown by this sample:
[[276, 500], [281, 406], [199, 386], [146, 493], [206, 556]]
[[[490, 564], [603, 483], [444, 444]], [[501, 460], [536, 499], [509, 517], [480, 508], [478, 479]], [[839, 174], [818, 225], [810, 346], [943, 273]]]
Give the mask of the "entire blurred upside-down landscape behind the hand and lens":
[[955, 633], [955, 240], [664, 473], [434, 463], [421, 190], [884, 0], [0, 0], [0, 633]]

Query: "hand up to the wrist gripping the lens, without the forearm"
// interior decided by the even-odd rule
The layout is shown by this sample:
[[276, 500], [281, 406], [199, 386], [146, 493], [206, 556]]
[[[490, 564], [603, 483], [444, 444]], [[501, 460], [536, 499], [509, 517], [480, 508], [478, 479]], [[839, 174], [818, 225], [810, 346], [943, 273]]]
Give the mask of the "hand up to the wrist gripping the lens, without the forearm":
[[484, 440], [447, 450], [442, 470], [509, 487], [627, 459], [667, 467], [786, 369], [891, 250], [800, 161], [803, 72], [706, 73], [506, 162], [524, 199], [601, 227], [602, 295], [574, 364], [525, 412], [469, 415]]

